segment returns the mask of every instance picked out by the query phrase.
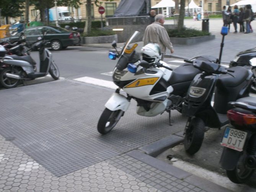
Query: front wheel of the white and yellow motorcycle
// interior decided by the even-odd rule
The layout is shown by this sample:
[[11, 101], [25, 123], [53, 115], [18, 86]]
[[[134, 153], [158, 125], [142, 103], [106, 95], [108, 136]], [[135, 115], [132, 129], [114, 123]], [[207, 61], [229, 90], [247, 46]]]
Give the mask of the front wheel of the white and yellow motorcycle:
[[101, 114], [101, 117], [99, 118], [98, 132], [103, 135], [110, 132], [116, 126], [123, 114], [124, 111], [122, 110], [111, 111], [105, 108]]

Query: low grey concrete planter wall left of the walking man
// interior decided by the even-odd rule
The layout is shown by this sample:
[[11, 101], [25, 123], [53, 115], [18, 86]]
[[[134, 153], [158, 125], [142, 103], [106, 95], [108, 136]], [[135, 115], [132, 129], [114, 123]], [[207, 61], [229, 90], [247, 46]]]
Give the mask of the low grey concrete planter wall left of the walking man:
[[83, 44], [96, 44], [96, 43], [112, 43], [118, 42], [117, 35], [99, 36], [99, 37], [82, 37]]

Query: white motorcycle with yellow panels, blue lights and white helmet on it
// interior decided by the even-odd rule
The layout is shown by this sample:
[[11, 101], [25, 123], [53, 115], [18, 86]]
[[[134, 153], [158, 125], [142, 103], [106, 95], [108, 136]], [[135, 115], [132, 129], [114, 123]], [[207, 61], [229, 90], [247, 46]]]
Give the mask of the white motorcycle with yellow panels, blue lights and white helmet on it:
[[[154, 43], [142, 47], [143, 60], [140, 60], [140, 55], [135, 51], [138, 44], [131, 43], [138, 34], [136, 31], [128, 39], [121, 54], [117, 50], [117, 54], [109, 53], [110, 59], [119, 58], [113, 71], [113, 81], [119, 88], [105, 104], [106, 108], [99, 118], [98, 132], [101, 134], [106, 134], [115, 127], [127, 111], [131, 99], [137, 101], [138, 115], [153, 117], [167, 111], [170, 123], [171, 110], [181, 112], [189, 85], [200, 72], [192, 66], [171, 69], [160, 61], [160, 48]], [[116, 42], [113, 47], [116, 49]], [[121, 89], [127, 96], [120, 93]]]

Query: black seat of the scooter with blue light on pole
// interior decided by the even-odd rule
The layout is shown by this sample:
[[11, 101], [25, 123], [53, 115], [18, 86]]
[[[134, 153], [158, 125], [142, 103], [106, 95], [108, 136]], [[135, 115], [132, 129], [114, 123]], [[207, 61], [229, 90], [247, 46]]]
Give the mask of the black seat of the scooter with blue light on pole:
[[235, 76], [235, 78], [229, 74], [221, 74], [217, 80], [218, 85], [222, 85], [224, 87], [237, 87], [243, 83], [249, 75], [249, 72], [245, 67], [236, 66], [229, 69], [235, 71], [233, 73], [229, 72]]

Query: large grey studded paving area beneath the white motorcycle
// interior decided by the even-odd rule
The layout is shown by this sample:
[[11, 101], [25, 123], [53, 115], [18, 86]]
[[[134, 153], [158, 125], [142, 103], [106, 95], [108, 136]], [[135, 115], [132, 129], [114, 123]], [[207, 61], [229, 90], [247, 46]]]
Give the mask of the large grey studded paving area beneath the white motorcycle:
[[136, 102], [107, 135], [97, 124], [112, 89], [72, 80], [1, 90], [0, 134], [55, 176], [155, 142], [184, 129], [185, 117], [136, 114]]

